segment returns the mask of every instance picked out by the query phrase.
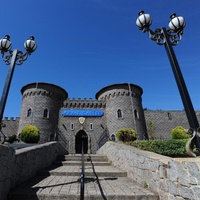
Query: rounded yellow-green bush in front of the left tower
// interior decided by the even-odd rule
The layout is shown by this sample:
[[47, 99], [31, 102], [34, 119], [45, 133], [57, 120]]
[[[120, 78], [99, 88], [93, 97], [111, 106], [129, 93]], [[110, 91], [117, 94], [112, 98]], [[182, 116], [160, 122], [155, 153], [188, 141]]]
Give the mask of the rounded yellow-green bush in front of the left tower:
[[36, 126], [27, 125], [20, 133], [20, 139], [25, 143], [38, 143], [40, 132]]

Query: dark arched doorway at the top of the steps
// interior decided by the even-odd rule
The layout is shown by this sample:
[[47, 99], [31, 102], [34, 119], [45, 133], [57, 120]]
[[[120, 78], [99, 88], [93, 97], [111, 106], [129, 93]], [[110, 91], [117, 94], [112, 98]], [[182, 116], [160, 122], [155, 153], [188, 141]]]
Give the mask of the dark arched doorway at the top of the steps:
[[75, 149], [77, 154], [82, 153], [82, 145], [84, 154], [88, 152], [88, 136], [85, 131], [81, 130], [76, 134]]

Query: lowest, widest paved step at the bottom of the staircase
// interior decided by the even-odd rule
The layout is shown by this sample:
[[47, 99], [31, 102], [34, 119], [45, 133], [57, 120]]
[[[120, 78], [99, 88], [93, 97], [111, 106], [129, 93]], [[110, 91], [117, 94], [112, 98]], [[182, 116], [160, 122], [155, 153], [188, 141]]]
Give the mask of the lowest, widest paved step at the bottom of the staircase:
[[[86, 178], [84, 200], [158, 200], [150, 190], [127, 177]], [[8, 200], [80, 200], [77, 176], [37, 176], [12, 190]]]

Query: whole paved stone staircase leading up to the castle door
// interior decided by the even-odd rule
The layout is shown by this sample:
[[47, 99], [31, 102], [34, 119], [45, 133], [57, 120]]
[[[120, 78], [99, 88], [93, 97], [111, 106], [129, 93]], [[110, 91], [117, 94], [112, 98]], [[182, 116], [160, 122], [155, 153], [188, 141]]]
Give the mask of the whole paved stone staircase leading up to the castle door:
[[[10, 191], [8, 200], [80, 199], [81, 155], [66, 155]], [[106, 156], [85, 155], [84, 200], [158, 200], [157, 194], [113, 167]]]

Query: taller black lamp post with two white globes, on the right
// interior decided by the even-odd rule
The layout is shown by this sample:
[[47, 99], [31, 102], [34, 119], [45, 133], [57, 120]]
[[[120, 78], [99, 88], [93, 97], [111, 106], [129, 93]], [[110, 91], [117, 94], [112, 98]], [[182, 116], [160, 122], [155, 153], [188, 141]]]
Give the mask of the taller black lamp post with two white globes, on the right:
[[[172, 14], [170, 18], [171, 20], [168, 25], [168, 30], [166, 28], [157, 28], [155, 31], [152, 31], [150, 29], [152, 24], [150, 14], [146, 14], [144, 11], [140, 11], [139, 17], [136, 20], [136, 25], [142, 32], [147, 32], [151, 40], [155, 41], [158, 45], [165, 46], [189, 122], [190, 129], [188, 132], [192, 134], [192, 137], [186, 144], [186, 151], [189, 155], [196, 157], [196, 154], [199, 154], [200, 152], [199, 122], [197, 120], [196, 113], [194, 111], [181, 69], [172, 47], [177, 45], [181, 40], [183, 29], [186, 26], [186, 23], [182, 16], [177, 17], [175, 13]], [[194, 144], [196, 145], [196, 152], [194, 152]]]

